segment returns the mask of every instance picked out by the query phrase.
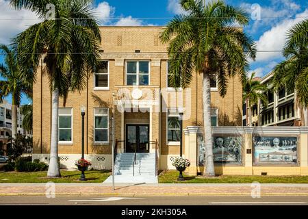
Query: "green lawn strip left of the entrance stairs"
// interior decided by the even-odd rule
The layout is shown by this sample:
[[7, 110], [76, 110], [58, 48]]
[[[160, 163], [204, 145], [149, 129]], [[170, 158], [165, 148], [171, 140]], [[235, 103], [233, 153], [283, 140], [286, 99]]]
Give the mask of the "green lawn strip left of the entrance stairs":
[[0, 172], [0, 183], [102, 183], [110, 176], [107, 170], [86, 171], [87, 181], [79, 181], [80, 171], [61, 170], [61, 178], [47, 178], [47, 171], [43, 172]]

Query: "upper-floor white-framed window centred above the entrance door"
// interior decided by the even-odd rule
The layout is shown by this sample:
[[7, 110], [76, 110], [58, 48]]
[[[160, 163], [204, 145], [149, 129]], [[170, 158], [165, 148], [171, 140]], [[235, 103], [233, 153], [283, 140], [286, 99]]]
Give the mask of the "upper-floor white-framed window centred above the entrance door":
[[126, 63], [126, 84], [132, 86], [148, 86], [150, 62], [127, 61]]

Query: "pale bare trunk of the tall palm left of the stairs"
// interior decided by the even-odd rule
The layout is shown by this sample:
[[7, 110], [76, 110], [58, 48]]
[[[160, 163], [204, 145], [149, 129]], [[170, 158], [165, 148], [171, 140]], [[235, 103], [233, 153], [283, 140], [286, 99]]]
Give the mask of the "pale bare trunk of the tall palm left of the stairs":
[[59, 90], [55, 88], [52, 94], [52, 117], [51, 117], [51, 145], [50, 160], [47, 177], [61, 177], [60, 166], [58, 163], [57, 135], [58, 135], [58, 108], [59, 108]]

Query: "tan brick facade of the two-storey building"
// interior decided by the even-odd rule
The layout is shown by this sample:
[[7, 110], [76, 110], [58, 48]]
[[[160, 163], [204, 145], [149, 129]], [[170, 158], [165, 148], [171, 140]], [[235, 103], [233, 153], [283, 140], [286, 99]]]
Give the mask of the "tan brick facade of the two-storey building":
[[[73, 144], [59, 144], [60, 154], [81, 153], [81, 105], [86, 106], [86, 140], [85, 153], [105, 154], [111, 153], [111, 144], [94, 144], [94, 107], [109, 107], [110, 118], [112, 116], [112, 93], [116, 92], [119, 86], [125, 86], [125, 62], [127, 60], [149, 60], [150, 62], [150, 84], [149, 88], [166, 88], [167, 79], [167, 45], [158, 40], [159, 34], [164, 27], [100, 27], [101, 29], [101, 53], [102, 60], [109, 61], [110, 67], [110, 88], [109, 90], [94, 90], [94, 77], [89, 73], [87, 87], [79, 92], [70, 93], [66, 107], [73, 108]], [[140, 53], [136, 53], [140, 50]], [[51, 142], [51, 90], [49, 79], [44, 73], [44, 66], [38, 69], [36, 83], [34, 83], [34, 154], [48, 154]], [[188, 126], [202, 125], [203, 102], [202, 102], [202, 77], [196, 73], [190, 84], [191, 115], [183, 121], [183, 129]], [[168, 93], [172, 93], [170, 91]], [[184, 91], [185, 92], [185, 91]], [[160, 103], [166, 101], [160, 99]], [[240, 77], [229, 79], [227, 95], [222, 98], [217, 91], [211, 92], [212, 107], [218, 108], [218, 126], [240, 126], [242, 125], [242, 84]], [[172, 105], [170, 101], [166, 103]], [[63, 100], [60, 99], [60, 107], [63, 107]], [[154, 107], [154, 106], [153, 106]], [[123, 123], [127, 118], [136, 118], [138, 115], [123, 116], [116, 110], [116, 139], [125, 140], [125, 126]], [[179, 154], [179, 146], [168, 146], [166, 143], [166, 112], [150, 112], [147, 116], [140, 116], [149, 119], [150, 140], [159, 142], [161, 155]], [[149, 118], [148, 118], [149, 117]], [[124, 119], [124, 121], [123, 121]], [[110, 123], [111, 124], [111, 123]], [[110, 129], [111, 130], [111, 129]], [[111, 131], [110, 131], [111, 132]], [[123, 144], [121, 146], [123, 148]], [[183, 151], [185, 142], [183, 142]]]

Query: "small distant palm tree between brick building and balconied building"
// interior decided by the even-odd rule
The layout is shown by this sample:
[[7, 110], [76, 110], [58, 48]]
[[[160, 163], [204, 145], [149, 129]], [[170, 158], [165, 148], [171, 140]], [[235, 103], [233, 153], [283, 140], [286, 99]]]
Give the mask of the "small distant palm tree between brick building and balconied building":
[[249, 107], [249, 126], [253, 126], [251, 111], [253, 105], [257, 105], [259, 100], [266, 105], [268, 101], [266, 95], [268, 88], [265, 84], [261, 84], [260, 81], [255, 80], [254, 77], [255, 73], [252, 73], [251, 77], [246, 78], [243, 84], [243, 101], [247, 101], [247, 106]]

